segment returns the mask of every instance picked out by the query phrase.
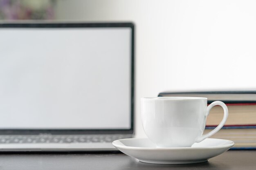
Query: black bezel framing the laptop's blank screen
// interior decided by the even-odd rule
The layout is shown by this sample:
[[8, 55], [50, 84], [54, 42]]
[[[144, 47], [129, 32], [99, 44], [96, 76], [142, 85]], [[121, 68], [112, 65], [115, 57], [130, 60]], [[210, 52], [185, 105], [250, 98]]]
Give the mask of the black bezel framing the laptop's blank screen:
[[131, 57], [130, 57], [130, 108], [131, 124], [130, 129], [0, 129], [1, 135], [73, 135], [73, 134], [133, 134], [134, 133], [134, 46], [135, 46], [135, 26], [132, 22], [125, 23], [0, 23], [2, 28], [131, 28]]

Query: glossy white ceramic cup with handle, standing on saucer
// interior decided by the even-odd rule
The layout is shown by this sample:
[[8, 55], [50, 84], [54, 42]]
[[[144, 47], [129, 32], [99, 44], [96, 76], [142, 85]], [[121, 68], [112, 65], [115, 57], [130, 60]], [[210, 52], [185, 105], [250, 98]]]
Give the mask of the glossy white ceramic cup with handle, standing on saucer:
[[[202, 135], [209, 111], [216, 105], [223, 108], [224, 117], [215, 129]], [[224, 126], [228, 109], [220, 101], [207, 106], [204, 97], [144, 97], [141, 98], [141, 116], [148, 139], [157, 147], [191, 147]]]

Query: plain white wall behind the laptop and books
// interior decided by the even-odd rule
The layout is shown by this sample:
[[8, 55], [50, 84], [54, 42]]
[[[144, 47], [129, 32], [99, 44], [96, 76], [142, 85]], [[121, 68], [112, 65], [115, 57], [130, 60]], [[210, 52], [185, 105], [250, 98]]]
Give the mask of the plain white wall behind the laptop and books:
[[56, 8], [59, 20], [136, 24], [137, 137], [141, 97], [256, 87], [254, 0], [59, 0]]

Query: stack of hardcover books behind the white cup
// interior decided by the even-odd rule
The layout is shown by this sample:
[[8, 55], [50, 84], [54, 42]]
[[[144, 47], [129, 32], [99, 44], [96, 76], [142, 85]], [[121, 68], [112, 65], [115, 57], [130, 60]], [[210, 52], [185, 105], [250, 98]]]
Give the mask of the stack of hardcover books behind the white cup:
[[[234, 141], [233, 149], [256, 149], [256, 91], [162, 92], [158, 96], [207, 97], [208, 104], [216, 100], [224, 102], [229, 117], [212, 138]], [[214, 106], [207, 117], [204, 134], [218, 126], [222, 118], [222, 107]]]

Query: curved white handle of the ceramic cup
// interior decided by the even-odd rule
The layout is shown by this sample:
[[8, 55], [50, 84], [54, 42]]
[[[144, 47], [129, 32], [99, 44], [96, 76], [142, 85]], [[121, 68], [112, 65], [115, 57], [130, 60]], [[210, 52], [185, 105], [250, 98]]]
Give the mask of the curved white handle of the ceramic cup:
[[213, 108], [213, 106], [216, 106], [216, 105], [221, 106], [223, 108], [223, 110], [224, 110], [224, 116], [223, 116], [222, 121], [220, 122], [220, 124], [215, 129], [213, 129], [211, 132], [209, 132], [209, 133], [207, 133], [205, 135], [202, 135], [201, 137], [196, 139], [195, 142], [198, 143], [198, 142], [203, 141], [204, 139], [206, 139], [208, 137], [211, 137], [216, 132], [218, 132], [224, 126], [225, 122], [227, 121], [227, 117], [229, 115], [229, 110], [227, 109], [226, 104], [223, 103], [223, 102], [220, 102], [220, 101], [212, 102], [209, 106], [207, 106], [205, 117], [207, 117], [209, 115], [209, 112], [210, 112], [211, 108]]

